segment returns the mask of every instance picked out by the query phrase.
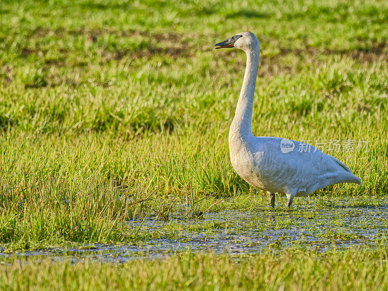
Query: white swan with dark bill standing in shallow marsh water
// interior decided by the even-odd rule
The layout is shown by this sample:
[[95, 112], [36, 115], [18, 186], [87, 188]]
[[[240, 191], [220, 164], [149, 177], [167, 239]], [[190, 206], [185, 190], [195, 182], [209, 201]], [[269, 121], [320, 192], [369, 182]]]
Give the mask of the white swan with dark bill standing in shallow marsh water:
[[278, 137], [254, 136], [252, 107], [259, 67], [259, 40], [252, 32], [241, 32], [216, 44], [215, 48], [236, 48], [246, 53], [244, 81], [229, 129], [230, 161], [246, 182], [267, 191], [271, 207], [275, 207], [275, 193], [286, 194], [286, 206], [291, 207], [295, 196], [307, 196], [329, 185], [361, 185], [361, 179], [347, 166], [313, 146]]

